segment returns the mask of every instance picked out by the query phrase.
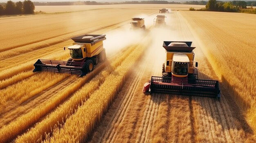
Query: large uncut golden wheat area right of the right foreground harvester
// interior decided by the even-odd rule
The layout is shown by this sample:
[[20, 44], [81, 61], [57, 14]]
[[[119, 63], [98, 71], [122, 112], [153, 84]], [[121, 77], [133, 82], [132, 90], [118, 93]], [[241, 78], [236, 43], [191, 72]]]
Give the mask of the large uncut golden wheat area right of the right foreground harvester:
[[[203, 51], [228, 88], [231, 98], [246, 112], [247, 121], [256, 130], [256, 80], [253, 78], [256, 77], [256, 15], [222, 13], [221, 19], [214, 12], [182, 12], [182, 15], [205, 47]], [[245, 17], [250, 20], [244, 20]]]

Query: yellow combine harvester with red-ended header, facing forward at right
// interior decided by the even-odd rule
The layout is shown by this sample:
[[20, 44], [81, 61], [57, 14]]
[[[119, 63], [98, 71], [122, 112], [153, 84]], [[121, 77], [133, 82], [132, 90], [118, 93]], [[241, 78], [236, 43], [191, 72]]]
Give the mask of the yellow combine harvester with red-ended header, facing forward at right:
[[[164, 41], [166, 59], [162, 68], [162, 77], [151, 77], [144, 84], [143, 92], [158, 92], [174, 95], [216, 97], [220, 99], [220, 85], [216, 80], [198, 79], [198, 70], [194, 67], [192, 42]], [[198, 63], [195, 62], [195, 66]]]

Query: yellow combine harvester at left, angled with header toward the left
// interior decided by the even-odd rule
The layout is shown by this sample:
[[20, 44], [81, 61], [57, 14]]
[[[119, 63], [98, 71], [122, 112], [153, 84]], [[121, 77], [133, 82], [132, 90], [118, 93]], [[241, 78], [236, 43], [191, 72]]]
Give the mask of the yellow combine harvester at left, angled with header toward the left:
[[79, 74], [81, 77], [93, 70], [94, 65], [106, 59], [103, 40], [106, 35], [81, 35], [71, 38], [73, 46], [64, 47], [70, 50], [71, 58], [67, 61], [38, 59], [34, 64], [36, 71]]

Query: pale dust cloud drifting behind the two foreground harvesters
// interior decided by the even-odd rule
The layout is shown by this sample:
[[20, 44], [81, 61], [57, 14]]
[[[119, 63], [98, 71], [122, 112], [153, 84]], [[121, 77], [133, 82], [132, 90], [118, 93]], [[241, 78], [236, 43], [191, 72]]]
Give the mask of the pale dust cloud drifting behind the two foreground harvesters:
[[[171, 11], [169, 9], [169, 11]], [[141, 44], [140, 42], [146, 37], [149, 41], [147, 49], [153, 53], [154, 60], [157, 61], [156, 66], [160, 66], [165, 60], [165, 49], [163, 48], [164, 41], [193, 41], [193, 38], [186, 35], [186, 29], [179, 29], [177, 25], [180, 23], [173, 19], [173, 13], [155, 13], [153, 15], [136, 15], [136, 18], [144, 18], [146, 31], [142, 29], [130, 29], [130, 23], [106, 33], [107, 40], [104, 41], [104, 48], [108, 57], [113, 54], [120, 53], [128, 46]], [[166, 25], [154, 26], [154, 18], [157, 15], [166, 16]]]

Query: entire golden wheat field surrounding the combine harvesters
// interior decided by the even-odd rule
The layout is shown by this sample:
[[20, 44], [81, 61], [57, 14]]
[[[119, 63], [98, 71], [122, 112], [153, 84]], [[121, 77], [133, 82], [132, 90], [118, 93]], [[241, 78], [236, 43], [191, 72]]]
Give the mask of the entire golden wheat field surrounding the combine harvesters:
[[[256, 142], [255, 15], [172, 11], [154, 28], [172, 5], [150, 6], [1, 18], [0, 142]], [[147, 30], [127, 31], [138, 15]], [[107, 35], [108, 60], [93, 72], [32, 73], [38, 58], [68, 59], [62, 47], [85, 33]], [[199, 78], [220, 80], [220, 101], [142, 93], [162, 74], [164, 40], [193, 41]]]

